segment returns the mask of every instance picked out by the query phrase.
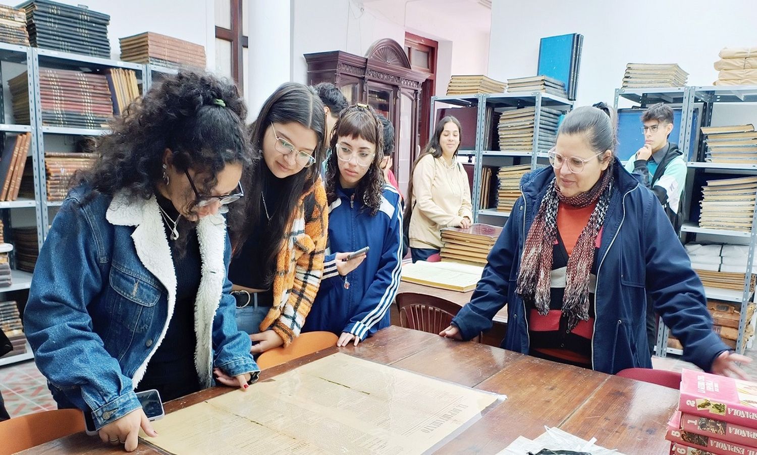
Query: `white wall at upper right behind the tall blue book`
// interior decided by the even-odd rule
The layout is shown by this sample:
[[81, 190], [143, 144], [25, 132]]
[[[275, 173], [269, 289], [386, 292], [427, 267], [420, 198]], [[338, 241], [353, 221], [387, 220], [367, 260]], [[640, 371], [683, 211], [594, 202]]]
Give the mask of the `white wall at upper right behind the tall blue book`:
[[712, 64], [721, 48], [757, 45], [754, 0], [492, 3], [489, 76], [495, 79], [534, 76], [544, 36], [584, 35], [578, 105], [612, 102], [630, 62], [678, 63], [690, 74], [689, 85], [706, 86], [717, 79]]

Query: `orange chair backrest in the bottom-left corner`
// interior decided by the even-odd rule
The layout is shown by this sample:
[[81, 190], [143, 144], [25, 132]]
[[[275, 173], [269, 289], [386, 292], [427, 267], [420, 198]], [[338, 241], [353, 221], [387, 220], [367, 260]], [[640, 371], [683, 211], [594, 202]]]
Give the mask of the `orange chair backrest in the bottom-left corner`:
[[0, 422], [0, 455], [20, 452], [84, 431], [84, 414], [59, 409], [26, 414]]

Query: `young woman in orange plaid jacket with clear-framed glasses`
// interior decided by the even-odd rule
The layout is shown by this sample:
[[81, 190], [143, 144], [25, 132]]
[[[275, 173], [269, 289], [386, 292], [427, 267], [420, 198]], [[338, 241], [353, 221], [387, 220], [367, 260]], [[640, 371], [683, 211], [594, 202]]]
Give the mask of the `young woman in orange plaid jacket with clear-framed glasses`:
[[229, 266], [237, 323], [260, 354], [299, 335], [323, 273], [326, 117], [318, 95], [285, 83], [251, 126], [247, 218]]

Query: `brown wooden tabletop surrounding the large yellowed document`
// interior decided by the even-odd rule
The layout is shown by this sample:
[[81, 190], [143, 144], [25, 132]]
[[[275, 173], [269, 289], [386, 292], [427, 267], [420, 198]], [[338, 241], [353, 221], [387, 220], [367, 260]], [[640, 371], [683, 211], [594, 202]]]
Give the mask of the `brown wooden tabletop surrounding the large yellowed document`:
[[[665, 429], [678, 405], [678, 391], [674, 389], [396, 326], [377, 332], [358, 347], [329, 347], [267, 369], [260, 374], [260, 380], [335, 352], [507, 395], [503, 403], [437, 453], [497, 453], [519, 435], [536, 438], [544, 432], [544, 425], [559, 427], [586, 440], [596, 437], [597, 444], [628, 455], [668, 453], [670, 447], [665, 441]], [[170, 401], [166, 412], [229, 390], [210, 388]], [[254, 385], [250, 391], [254, 392]], [[123, 451], [81, 433], [25, 453]], [[142, 441], [134, 453], [164, 452]]]

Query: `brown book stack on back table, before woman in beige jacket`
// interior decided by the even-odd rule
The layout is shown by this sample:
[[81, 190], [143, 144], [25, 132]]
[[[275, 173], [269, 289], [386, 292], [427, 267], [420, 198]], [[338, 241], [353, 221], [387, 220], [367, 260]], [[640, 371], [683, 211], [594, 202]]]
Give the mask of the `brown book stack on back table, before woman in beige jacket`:
[[486, 257], [502, 228], [475, 223], [468, 229], [441, 229], [441, 260], [486, 265]]

